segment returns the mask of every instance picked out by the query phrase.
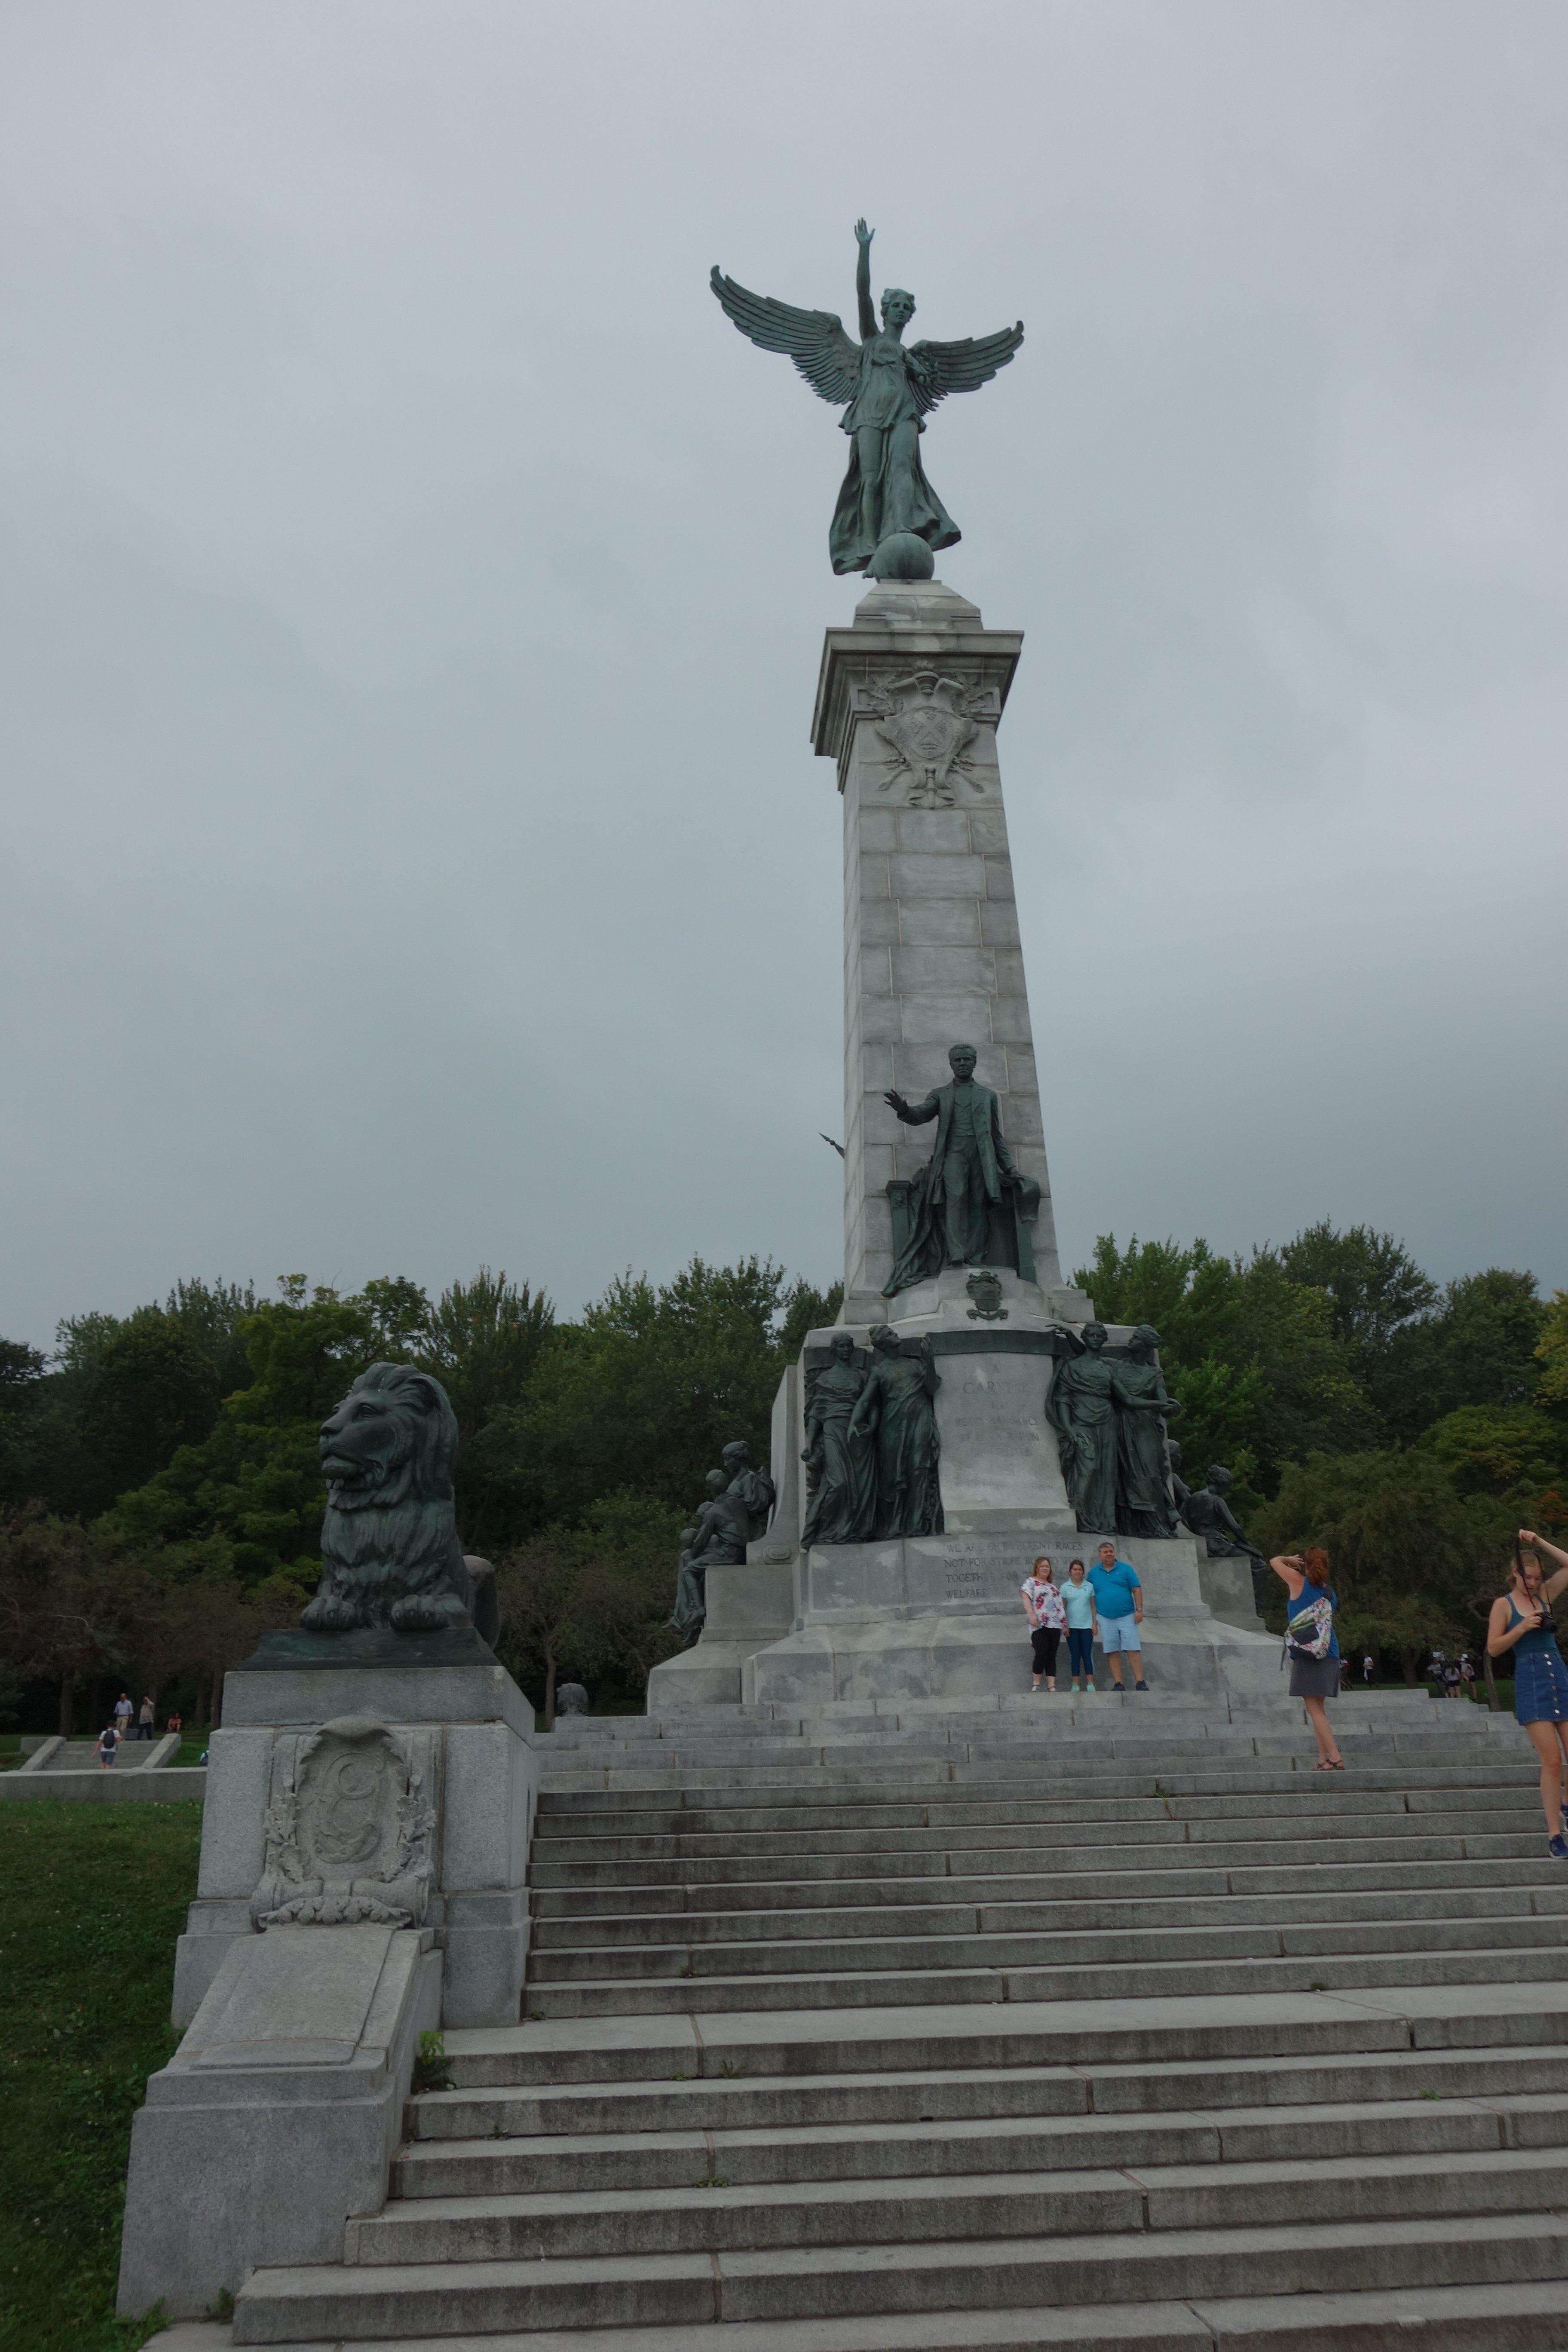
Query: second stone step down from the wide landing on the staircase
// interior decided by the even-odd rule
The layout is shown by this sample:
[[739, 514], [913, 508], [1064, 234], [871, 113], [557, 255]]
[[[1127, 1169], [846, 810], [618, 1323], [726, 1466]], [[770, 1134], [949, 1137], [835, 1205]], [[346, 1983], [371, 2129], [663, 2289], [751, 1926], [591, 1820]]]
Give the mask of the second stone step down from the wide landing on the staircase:
[[397, 2199], [597, 2197], [689, 2190], [722, 2176], [762, 2183], [893, 2180], [952, 2173], [1056, 2173], [1150, 2166], [1291, 2164], [1326, 2157], [1559, 2152], [1568, 2161], [1568, 2096], [1519, 2100], [1371, 2100], [1234, 2107], [1222, 2114], [1006, 2114], [811, 2129], [524, 2133], [496, 2143], [416, 2140], [393, 2169]]

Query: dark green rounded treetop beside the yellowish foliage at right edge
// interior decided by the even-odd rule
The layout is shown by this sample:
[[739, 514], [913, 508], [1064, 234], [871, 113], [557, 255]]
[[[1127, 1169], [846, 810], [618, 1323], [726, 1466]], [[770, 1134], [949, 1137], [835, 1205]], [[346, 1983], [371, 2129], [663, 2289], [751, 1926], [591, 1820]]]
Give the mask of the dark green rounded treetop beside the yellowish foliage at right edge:
[[1530, 1404], [1544, 1331], [1535, 1275], [1462, 1275], [1432, 1315], [1394, 1334], [1371, 1376], [1373, 1402], [1406, 1442], [1462, 1404]]

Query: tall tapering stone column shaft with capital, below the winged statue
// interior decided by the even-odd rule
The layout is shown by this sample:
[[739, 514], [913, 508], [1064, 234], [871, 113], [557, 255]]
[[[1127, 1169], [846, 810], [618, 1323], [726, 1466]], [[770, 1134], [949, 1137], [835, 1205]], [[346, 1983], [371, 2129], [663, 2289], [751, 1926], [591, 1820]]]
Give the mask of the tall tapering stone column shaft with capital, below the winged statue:
[[[844, 797], [844, 1322], [889, 1315], [889, 1183], [931, 1155], [919, 1101], [973, 1044], [1018, 1169], [1039, 1183], [1041, 1305], [1060, 1291], [997, 727], [1023, 635], [940, 581], [891, 581], [830, 628], [811, 739]], [[1011, 1284], [1009, 1284], [1011, 1289]], [[912, 1301], [905, 1301], [905, 1310]]]

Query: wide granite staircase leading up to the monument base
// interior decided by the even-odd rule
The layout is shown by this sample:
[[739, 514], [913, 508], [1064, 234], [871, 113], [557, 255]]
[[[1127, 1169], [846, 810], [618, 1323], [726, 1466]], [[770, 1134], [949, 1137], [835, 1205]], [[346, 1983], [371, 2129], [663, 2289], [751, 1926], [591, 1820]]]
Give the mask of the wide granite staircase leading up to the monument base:
[[559, 1726], [515, 2027], [235, 2343], [1568, 2345], [1568, 1865], [1481, 1708]]

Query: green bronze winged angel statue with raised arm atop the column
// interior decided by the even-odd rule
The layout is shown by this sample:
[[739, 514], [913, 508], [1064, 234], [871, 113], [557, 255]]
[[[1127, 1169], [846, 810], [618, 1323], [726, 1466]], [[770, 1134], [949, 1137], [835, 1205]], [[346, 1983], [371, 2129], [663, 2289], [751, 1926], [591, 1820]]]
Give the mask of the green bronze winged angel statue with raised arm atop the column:
[[903, 329], [914, 318], [914, 296], [889, 287], [877, 327], [872, 235], [865, 221], [856, 221], [858, 343], [844, 334], [844, 320], [832, 310], [795, 310], [771, 294], [748, 294], [717, 263], [712, 292], [752, 343], [788, 350], [820, 400], [849, 402], [842, 419], [849, 433], [849, 473], [827, 532], [832, 569], [870, 572], [875, 579], [931, 579], [931, 550], [950, 548], [959, 527], [919, 461], [924, 419], [947, 393], [973, 393], [990, 383], [1023, 343], [1023, 320], [978, 341], [964, 336], [961, 343], [905, 348]]

